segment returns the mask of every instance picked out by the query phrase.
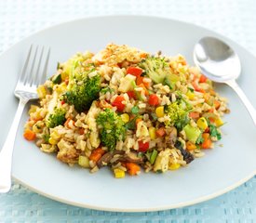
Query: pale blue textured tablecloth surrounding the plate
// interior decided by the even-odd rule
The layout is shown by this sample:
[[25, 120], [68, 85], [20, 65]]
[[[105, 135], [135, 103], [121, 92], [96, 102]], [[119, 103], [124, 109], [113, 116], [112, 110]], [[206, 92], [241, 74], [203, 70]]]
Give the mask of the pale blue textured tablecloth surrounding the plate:
[[[193, 22], [228, 36], [256, 55], [255, 11], [254, 0], [0, 0], [0, 53], [21, 38], [65, 20], [131, 14]], [[13, 182], [9, 193], [0, 194], [0, 222], [256, 222], [256, 177], [208, 202], [149, 213], [74, 207]]]

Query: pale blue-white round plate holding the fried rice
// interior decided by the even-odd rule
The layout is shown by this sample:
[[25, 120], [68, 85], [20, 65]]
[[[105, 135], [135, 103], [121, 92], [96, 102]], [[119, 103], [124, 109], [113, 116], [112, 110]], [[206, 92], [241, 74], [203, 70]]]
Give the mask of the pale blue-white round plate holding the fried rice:
[[[193, 46], [201, 37], [222, 38], [237, 51], [243, 67], [238, 84], [256, 105], [256, 58], [236, 43], [192, 24], [150, 17], [112, 16], [74, 20], [54, 26], [12, 46], [0, 58], [1, 128], [3, 145], [17, 108], [12, 91], [17, 74], [31, 44], [51, 47], [49, 74], [57, 61], [69, 59], [77, 51], [97, 52], [110, 42], [136, 46], [149, 52], [159, 49], [166, 55], [181, 53], [192, 64]], [[224, 136], [204, 158], [179, 171], [167, 174], [144, 174], [115, 179], [111, 171], [96, 174], [71, 168], [53, 155], [38, 150], [22, 138], [23, 113], [13, 155], [12, 176], [20, 183], [49, 198], [78, 206], [111, 211], [155, 211], [199, 203], [236, 188], [255, 175], [256, 127], [252, 124], [236, 94], [226, 85], [218, 85], [222, 96], [229, 98], [231, 113], [222, 127]]]

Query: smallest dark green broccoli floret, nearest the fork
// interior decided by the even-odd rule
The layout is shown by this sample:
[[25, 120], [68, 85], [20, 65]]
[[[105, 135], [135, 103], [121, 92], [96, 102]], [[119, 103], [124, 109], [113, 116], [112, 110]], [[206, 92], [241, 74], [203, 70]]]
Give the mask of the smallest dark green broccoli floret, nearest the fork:
[[61, 108], [55, 108], [52, 113], [47, 116], [46, 125], [48, 128], [54, 128], [58, 125], [63, 125], [66, 121], [66, 111]]

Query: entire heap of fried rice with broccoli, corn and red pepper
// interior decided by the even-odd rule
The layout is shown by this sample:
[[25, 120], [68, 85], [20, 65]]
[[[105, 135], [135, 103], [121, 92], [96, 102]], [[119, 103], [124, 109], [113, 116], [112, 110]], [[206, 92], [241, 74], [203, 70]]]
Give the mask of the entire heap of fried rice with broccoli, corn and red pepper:
[[63, 163], [117, 178], [190, 164], [222, 138], [225, 98], [182, 55], [110, 44], [58, 63], [38, 89], [24, 138]]

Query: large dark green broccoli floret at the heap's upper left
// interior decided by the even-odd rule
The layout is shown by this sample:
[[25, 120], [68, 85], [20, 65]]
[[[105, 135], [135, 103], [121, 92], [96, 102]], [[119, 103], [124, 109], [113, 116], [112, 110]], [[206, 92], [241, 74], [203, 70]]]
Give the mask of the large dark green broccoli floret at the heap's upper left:
[[[82, 79], [82, 75], [79, 77]], [[74, 79], [74, 81], [76, 82], [76, 79]], [[92, 77], [88, 77], [87, 74], [84, 74], [83, 79], [77, 81], [65, 93], [64, 100], [68, 104], [74, 105], [74, 109], [77, 112], [84, 112], [89, 109], [93, 100], [99, 98], [100, 91], [100, 74], [96, 74]]]

